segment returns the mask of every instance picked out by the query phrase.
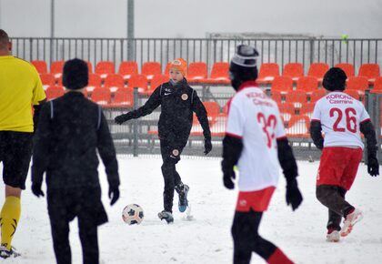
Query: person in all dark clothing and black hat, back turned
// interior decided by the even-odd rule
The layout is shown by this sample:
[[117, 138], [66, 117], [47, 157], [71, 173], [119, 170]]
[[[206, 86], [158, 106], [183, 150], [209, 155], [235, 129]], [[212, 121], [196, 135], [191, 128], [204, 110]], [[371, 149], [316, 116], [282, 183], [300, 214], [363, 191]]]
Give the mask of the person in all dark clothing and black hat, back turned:
[[82, 93], [88, 82], [84, 61], [64, 66], [65, 96], [45, 103], [35, 133], [32, 191], [41, 190], [46, 172], [47, 205], [58, 264], [71, 263], [69, 222], [78, 218], [84, 263], [99, 262], [97, 227], [106, 223], [98, 179], [98, 150], [106, 167], [111, 205], [119, 198], [116, 151], [101, 107]]

